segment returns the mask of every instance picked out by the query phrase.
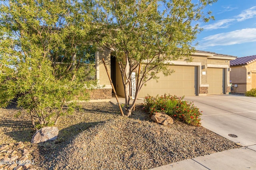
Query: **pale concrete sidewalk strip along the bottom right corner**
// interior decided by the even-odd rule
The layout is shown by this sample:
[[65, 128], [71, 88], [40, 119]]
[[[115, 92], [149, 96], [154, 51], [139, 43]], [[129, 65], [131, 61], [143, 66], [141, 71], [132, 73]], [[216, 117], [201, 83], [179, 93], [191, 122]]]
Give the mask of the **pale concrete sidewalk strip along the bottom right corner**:
[[151, 170], [256, 170], [256, 145], [182, 160]]

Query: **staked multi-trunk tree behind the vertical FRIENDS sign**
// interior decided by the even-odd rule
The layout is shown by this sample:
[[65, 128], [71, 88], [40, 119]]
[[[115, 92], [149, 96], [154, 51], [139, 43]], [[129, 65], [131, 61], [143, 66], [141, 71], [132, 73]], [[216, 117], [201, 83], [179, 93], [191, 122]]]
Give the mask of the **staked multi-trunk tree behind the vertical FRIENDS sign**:
[[[157, 79], [158, 72], [169, 75], [166, 62], [191, 61], [192, 42], [202, 29], [195, 21], [213, 17], [204, 8], [216, 0], [99, 0], [102, 41], [119, 64], [125, 92], [126, 114], [131, 115], [142, 86]], [[194, 25], [193, 25], [194, 24]], [[140, 72], [138, 72], [140, 70]], [[131, 75], [136, 72], [135, 100], [130, 104]]]

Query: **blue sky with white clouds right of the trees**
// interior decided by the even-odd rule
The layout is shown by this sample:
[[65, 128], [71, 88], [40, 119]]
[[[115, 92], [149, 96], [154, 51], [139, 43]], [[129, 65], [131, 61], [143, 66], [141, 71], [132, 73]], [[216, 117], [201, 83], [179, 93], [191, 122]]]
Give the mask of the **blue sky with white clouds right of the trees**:
[[218, 0], [207, 6], [215, 20], [200, 22], [204, 29], [197, 50], [246, 57], [256, 55], [256, 0]]

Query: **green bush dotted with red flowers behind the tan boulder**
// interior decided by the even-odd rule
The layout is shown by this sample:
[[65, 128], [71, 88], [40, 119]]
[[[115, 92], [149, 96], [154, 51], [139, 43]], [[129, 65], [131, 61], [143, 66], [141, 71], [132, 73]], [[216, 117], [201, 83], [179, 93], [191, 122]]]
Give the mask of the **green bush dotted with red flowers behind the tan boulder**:
[[189, 125], [200, 126], [202, 113], [192, 102], [184, 101], [183, 97], [171, 96], [146, 96], [144, 98], [144, 111], [151, 115], [164, 111], [171, 117], [183, 121]]

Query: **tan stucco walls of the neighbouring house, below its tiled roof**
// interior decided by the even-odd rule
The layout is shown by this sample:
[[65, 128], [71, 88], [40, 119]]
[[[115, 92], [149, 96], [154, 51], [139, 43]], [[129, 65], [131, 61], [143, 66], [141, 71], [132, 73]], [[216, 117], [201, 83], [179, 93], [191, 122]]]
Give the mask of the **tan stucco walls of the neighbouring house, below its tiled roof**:
[[245, 93], [252, 88], [256, 88], [256, 62], [231, 66], [231, 69], [232, 92]]

